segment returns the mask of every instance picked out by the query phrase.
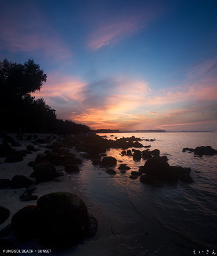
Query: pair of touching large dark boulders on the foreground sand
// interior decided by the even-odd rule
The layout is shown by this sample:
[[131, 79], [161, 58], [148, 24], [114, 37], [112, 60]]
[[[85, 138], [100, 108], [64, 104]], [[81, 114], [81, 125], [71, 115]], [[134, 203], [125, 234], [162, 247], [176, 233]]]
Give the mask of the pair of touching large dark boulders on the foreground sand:
[[43, 244], [64, 248], [94, 236], [97, 227], [98, 221], [78, 196], [56, 192], [41, 196], [36, 206], [20, 209], [13, 215], [8, 230], [13, 230], [22, 241], [37, 237]]

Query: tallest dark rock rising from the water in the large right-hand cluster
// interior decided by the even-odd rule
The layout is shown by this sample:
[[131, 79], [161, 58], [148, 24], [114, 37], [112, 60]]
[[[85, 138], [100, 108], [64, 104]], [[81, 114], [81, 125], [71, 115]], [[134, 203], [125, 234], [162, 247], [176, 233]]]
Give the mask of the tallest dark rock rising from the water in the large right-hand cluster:
[[160, 156], [154, 156], [148, 159], [145, 163], [145, 172], [150, 175], [155, 175], [158, 179], [176, 182], [179, 175], [170, 170], [170, 165]]

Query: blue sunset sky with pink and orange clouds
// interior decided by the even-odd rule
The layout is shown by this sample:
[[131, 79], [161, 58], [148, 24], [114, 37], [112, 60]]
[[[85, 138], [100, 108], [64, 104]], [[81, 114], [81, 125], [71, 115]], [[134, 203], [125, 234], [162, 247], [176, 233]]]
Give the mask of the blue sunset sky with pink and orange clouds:
[[91, 129], [217, 131], [216, 0], [0, 0], [0, 60]]

